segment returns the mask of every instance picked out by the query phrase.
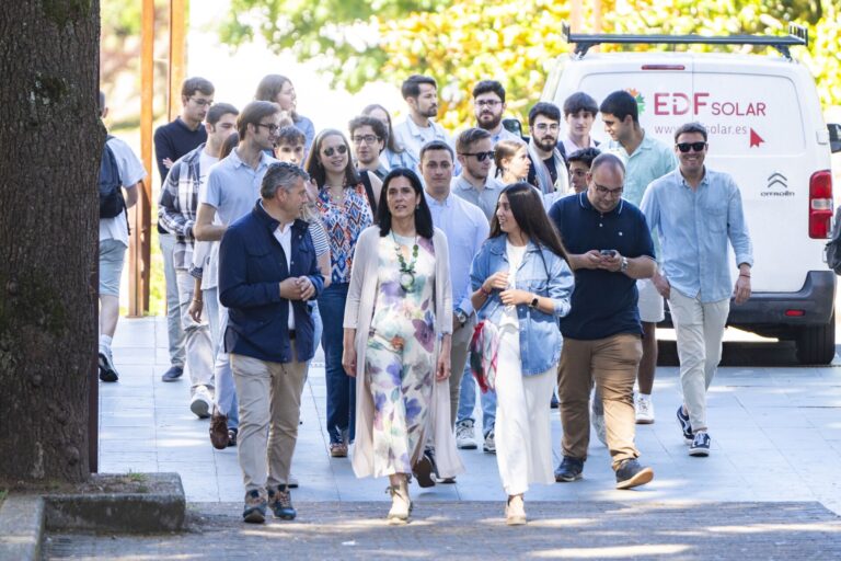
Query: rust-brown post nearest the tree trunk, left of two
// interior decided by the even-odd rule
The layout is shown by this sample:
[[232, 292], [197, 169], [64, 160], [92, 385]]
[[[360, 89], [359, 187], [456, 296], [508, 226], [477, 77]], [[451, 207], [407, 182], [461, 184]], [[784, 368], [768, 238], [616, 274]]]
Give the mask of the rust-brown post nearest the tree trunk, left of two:
[[138, 193], [137, 205], [129, 211], [128, 316], [142, 317], [149, 311], [149, 264], [151, 261], [152, 103], [154, 100], [154, 0], [142, 0], [140, 59], [140, 159], [149, 173]]

